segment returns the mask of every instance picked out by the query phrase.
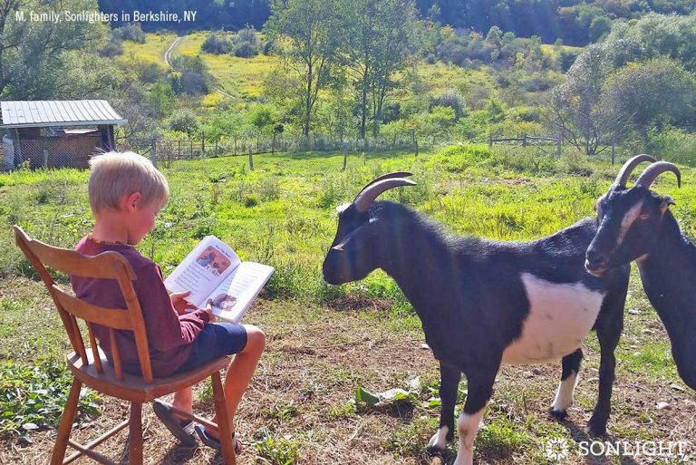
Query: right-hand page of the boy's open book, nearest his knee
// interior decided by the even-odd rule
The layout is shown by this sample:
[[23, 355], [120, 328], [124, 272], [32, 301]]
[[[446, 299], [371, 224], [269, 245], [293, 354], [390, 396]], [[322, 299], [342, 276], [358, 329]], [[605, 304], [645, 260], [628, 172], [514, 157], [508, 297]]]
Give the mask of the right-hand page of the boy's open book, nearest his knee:
[[268, 279], [273, 266], [244, 262], [211, 294], [213, 313], [223, 320], [239, 323]]

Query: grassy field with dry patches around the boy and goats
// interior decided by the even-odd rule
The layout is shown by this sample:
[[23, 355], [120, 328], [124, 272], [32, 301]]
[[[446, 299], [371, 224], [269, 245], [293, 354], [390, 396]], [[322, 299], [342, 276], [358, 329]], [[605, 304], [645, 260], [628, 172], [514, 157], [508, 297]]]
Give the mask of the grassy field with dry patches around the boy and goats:
[[[237, 418], [246, 444], [238, 461], [243, 465], [428, 463], [424, 449], [438, 425], [439, 380], [437, 363], [421, 348], [420, 321], [382, 272], [345, 286], [328, 286], [321, 278], [335, 232], [334, 208], [353, 199], [367, 181], [387, 171], [411, 170], [418, 186], [388, 192], [385, 199], [411, 205], [458, 234], [526, 240], [592, 215], [594, 199], [618, 169], [571, 153], [556, 161], [531, 150], [485, 146], [427, 150], [418, 158], [399, 151], [351, 154], [344, 171], [342, 161], [341, 153], [298, 153], [258, 156], [253, 171], [245, 158], [160, 164], [171, 198], [139, 249], [160, 263], [165, 275], [208, 234], [226, 241], [243, 259], [276, 268], [246, 319], [266, 331], [268, 344]], [[5, 225], [0, 235], [0, 463], [46, 461], [59, 392], [69, 381], [60, 362], [69, 343], [43, 286], [14, 247], [9, 226], [18, 223], [34, 237], [73, 247], [92, 228], [86, 180], [87, 173], [78, 170], [0, 175]], [[664, 176], [655, 189], [674, 197], [682, 228], [696, 237], [694, 170], [683, 169], [682, 185], [676, 189]], [[676, 374], [662, 324], [635, 271], [626, 308], [609, 437], [693, 441], [696, 395]], [[486, 426], [478, 434], [477, 463], [552, 463], [542, 450], [549, 438], [564, 438], [575, 452], [576, 441], [587, 439], [596, 399], [594, 334], [585, 342], [585, 354], [568, 421], [546, 415], [560, 363], [506, 367], [500, 373]], [[380, 409], [355, 402], [358, 386], [383, 392], [406, 388], [415, 377], [420, 388], [407, 402]], [[464, 398], [466, 382], [460, 391]], [[53, 393], [53, 403], [47, 392]], [[669, 409], [657, 409], [658, 402], [667, 402]], [[197, 408], [212, 411], [208, 386], [198, 388]], [[147, 463], [219, 463], [205, 447], [179, 447], [145, 410]], [[124, 412], [121, 402], [87, 395], [76, 434], [94, 437], [92, 425], [115, 423]], [[29, 422], [38, 428], [23, 429]], [[118, 458], [124, 444], [121, 435], [104, 450]], [[564, 463], [676, 462], [573, 453]]]

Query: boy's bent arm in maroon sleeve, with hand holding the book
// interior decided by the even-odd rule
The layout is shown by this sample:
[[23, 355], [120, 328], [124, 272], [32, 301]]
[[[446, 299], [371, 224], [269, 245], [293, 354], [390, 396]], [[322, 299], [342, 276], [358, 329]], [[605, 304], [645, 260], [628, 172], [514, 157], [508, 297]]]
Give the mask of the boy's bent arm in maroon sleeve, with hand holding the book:
[[133, 284], [140, 301], [150, 346], [165, 352], [193, 343], [208, 323], [208, 313], [198, 309], [190, 314], [177, 315], [162, 281], [160, 267], [154, 263], [142, 266], [136, 271], [136, 275], [138, 279]]

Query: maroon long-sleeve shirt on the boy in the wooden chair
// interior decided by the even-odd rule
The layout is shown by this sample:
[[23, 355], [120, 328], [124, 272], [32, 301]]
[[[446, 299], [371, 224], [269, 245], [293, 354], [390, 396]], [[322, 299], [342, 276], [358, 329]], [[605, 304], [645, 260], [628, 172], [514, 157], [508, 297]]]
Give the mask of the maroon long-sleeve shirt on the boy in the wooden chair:
[[[171, 305], [171, 299], [162, 280], [160, 267], [153, 261], [142, 257], [131, 246], [103, 244], [90, 237], [82, 237], [75, 247], [82, 255], [97, 255], [107, 250], [119, 252], [131, 263], [137, 279], [133, 281], [135, 294], [140, 301], [145, 332], [150, 345], [150, 362], [155, 377], [168, 376], [189, 357], [191, 344], [208, 323], [208, 313], [198, 309], [190, 314], [178, 315]], [[115, 279], [86, 278], [71, 276], [75, 295], [92, 305], [107, 308], [126, 308], [126, 302]], [[102, 325], [94, 325], [94, 334], [100, 347], [111, 360], [109, 330]], [[123, 370], [140, 374], [138, 351], [132, 331], [117, 330], [116, 344], [121, 354]]]

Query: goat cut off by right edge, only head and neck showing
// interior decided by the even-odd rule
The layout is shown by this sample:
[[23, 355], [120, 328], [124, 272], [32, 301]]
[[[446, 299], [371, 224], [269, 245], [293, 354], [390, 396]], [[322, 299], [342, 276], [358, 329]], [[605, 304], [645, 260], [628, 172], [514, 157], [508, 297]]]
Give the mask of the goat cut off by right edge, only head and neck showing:
[[[636, 159], [655, 161], [647, 155], [632, 160]], [[669, 209], [672, 198], [650, 190], [652, 181], [666, 171], [672, 171], [681, 185], [679, 169], [658, 161], [632, 188], [626, 188], [627, 173], [597, 200], [598, 229], [587, 248], [585, 266], [604, 276], [615, 266], [638, 263], [645, 294], [670, 336], [679, 375], [696, 389], [696, 246], [681, 234]]]

